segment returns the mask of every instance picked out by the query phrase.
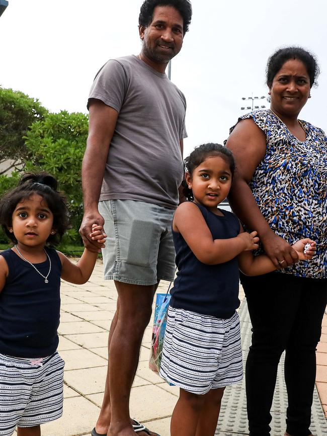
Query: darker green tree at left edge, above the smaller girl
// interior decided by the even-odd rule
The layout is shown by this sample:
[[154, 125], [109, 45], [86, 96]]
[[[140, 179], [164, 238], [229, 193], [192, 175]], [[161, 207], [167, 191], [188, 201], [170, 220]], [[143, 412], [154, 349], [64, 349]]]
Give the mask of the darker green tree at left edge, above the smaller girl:
[[27, 150], [23, 137], [31, 124], [43, 120], [47, 113], [37, 99], [0, 86], [0, 164], [8, 161], [0, 174], [24, 162]]

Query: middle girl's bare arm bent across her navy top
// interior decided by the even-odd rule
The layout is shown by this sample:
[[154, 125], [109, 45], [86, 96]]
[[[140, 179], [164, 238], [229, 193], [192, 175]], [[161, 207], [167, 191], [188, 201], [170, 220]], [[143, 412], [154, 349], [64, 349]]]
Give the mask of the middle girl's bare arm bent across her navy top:
[[194, 255], [207, 265], [222, 264], [243, 250], [258, 248], [257, 232], [243, 232], [229, 239], [212, 239], [200, 209], [190, 202], [184, 202], [177, 208], [173, 229], [182, 234]]

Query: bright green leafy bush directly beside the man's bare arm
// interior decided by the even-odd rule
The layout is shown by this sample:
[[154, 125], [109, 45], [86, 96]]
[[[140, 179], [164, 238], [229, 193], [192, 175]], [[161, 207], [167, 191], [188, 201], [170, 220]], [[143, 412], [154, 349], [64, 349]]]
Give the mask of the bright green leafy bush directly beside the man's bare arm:
[[27, 171], [44, 170], [52, 174], [68, 199], [71, 211], [70, 238], [80, 241], [78, 228], [83, 217], [81, 162], [88, 137], [88, 116], [61, 111], [48, 114], [32, 124], [25, 137], [29, 160]]

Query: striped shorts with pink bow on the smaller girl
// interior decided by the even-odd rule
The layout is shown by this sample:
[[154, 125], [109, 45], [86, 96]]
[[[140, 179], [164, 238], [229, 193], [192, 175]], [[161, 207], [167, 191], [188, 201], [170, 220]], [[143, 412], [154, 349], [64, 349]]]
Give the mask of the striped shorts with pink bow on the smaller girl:
[[43, 359], [0, 354], [0, 435], [62, 415], [64, 361], [54, 353]]

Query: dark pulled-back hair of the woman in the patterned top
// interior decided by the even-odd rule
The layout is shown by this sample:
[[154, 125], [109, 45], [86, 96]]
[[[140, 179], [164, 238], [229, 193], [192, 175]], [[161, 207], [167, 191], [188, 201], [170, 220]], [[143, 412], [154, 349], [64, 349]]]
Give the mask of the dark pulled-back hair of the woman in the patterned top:
[[280, 48], [269, 57], [266, 67], [266, 83], [268, 88], [271, 88], [275, 75], [284, 63], [290, 59], [297, 59], [304, 63], [310, 77], [310, 88], [312, 88], [312, 85], [317, 84], [316, 80], [320, 69], [315, 55], [302, 47], [292, 46]]

